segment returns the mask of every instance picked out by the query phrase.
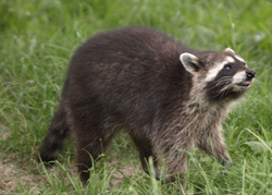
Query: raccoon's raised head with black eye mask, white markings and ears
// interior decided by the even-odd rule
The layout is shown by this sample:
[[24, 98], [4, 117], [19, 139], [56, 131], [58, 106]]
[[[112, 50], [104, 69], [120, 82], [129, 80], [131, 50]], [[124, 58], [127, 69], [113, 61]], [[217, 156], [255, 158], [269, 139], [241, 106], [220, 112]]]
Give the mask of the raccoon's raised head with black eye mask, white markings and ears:
[[181, 54], [181, 61], [211, 100], [236, 99], [249, 88], [255, 77], [245, 60], [227, 48], [223, 52], [203, 52], [196, 57]]

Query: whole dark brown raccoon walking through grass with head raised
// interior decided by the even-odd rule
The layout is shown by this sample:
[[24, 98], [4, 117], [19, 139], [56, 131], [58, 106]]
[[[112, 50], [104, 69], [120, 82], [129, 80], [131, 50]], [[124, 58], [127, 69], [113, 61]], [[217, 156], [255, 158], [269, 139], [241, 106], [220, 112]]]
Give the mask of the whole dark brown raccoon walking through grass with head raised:
[[165, 183], [177, 176], [184, 181], [187, 153], [195, 146], [230, 167], [221, 123], [254, 77], [255, 71], [230, 48], [199, 51], [147, 27], [96, 35], [71, 60], [39, 158], [55, 160], [74, 132], [78, 172], [86, 183], [90, 156], [98, 159], [125, 130], [144, 170], [149, 173], [151, 157], [156, 178]]

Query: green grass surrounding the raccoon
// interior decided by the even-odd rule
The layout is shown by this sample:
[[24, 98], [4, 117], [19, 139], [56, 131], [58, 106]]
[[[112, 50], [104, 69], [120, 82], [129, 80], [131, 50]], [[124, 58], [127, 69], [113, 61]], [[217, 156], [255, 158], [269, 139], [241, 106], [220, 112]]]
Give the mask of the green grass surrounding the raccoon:
[[[272, 3], [267, 0], [1, 0], [0, 157], [37, 180], [17, 180], [7, 194], [175, 194], [140, 171], [135, 148], [120, 135], [83, 187], [75, 171], [72, 141], [58, 169], [36, 164], [38, 147], [58, 106], [67, 63], [91, 35], [127, 25], [162, 29], [184, 44], [223, 50], [231, 47], [256, 70], [246, 98], [224, 123], [233, 167], [223, 168], [198, 149], [189, 155], [186, 194], [272, 194]], [[70, 161], [71, 159], [71, 161]], [[111, 184], [123, 167], [133, 175]], [[74, 169], [74, 168], [73, 168]], [[121, 169], [121, 170], [120, 170]], [[14, 179], [16, 176], [14, 175]], [[120, 180], [118, 180], [120, 181]], [[1, 186], [0, 186], [1, 187]]]

